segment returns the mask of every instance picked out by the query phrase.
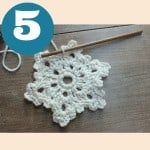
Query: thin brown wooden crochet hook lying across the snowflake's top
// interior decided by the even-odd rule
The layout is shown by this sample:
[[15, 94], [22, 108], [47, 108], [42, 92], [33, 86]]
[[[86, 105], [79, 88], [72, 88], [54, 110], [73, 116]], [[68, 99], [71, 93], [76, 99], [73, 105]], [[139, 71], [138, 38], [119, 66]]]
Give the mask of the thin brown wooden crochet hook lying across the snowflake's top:
[[[65, 52], [71, 52], [73, 50], [84, 49], [84, 48], [87, 48], [87, 47], [90, 47], [90, 46], [103, 44], [103, 43], [114, 41], [114, 40], [119, 40], [119, 39], [124, 39], [124, 38], [129, 38], [129, 37], [141, 35], [142, 32], [143, 31], [140, 30], [140, 31], [131, 32], [131, 33], [128, 33], [128, 34], [121, 34], [119, 36], [109, 37], [109, 38], [106, 38], [106, 39], [103, 39], [103, 40], [98, 40], [98, 41], [94, 41], [94, 42], [90, 42], [90, 43], [86, 43], [86, 44], [81, 44], [81, 45], [78, 45], [76, 47], [72, 47], [72, 48], [66, 49]], [[63, 53], [63, 51], [62, 50], [58, 50], [58, 51], [42, 54], [41, 56], [42, 57], [48, 57], [48, 56], [53, 56], [53, 55], [57, 55], [57, 54], [61, 54], [61, 53]]]

